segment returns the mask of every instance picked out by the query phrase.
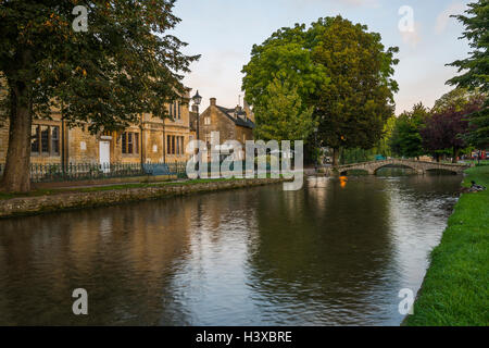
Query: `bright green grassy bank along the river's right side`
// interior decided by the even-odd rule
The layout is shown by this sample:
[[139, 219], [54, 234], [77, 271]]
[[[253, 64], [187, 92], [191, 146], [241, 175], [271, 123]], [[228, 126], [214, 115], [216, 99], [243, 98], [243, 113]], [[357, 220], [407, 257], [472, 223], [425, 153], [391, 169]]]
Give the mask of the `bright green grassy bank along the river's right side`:
[[[489, 187], [489, 165], [466, 171]], [[489, 325], [489, 190], [464, 194], [450, 216], [405, 325]]]

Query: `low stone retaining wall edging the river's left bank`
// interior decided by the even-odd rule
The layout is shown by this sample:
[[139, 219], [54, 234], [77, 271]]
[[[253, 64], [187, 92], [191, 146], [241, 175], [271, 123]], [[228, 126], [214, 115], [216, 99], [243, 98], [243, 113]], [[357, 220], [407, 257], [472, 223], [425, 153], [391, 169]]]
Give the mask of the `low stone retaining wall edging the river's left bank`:
[[17, 197], [0, 200], [0, 219], [37, 215], [42, 213], [108, 207], [126, 202], [161, 199], [166, 197], [227, 190], [284, 183], [286, 178], [216, 179], [205, 183], [155, 185], [139, 188], [74, 191], [54, 195]]

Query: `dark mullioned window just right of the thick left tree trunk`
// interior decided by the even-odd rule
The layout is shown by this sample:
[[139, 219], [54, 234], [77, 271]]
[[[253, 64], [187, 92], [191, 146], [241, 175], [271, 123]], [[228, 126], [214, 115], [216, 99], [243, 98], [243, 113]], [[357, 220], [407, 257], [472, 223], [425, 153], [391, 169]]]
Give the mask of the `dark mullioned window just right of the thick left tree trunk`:
[[30, 152], [33, 154], [60, 156], [60, 127], [33, 125], [30, 128]]

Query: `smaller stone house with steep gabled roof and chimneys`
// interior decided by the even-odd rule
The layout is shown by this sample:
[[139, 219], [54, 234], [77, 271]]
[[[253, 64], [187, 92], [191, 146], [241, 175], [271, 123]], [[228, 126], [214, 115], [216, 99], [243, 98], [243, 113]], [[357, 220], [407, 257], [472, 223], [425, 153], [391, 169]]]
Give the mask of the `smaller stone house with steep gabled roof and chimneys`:
[[[197, 117], [193, 117], [197, 119]], [[192, 128], [197, 129], [197, 120], [192, 120]], [[238, 140], [243, 149], [247, 140], [253, 140], [254, 115], [251, 109], [244, 107], [228, 109], [220, 107], [215, 98], [199, 116], [199, 139], [211, 145], [212, 133], [220, 133], [220, 144], [226, 140]]]

